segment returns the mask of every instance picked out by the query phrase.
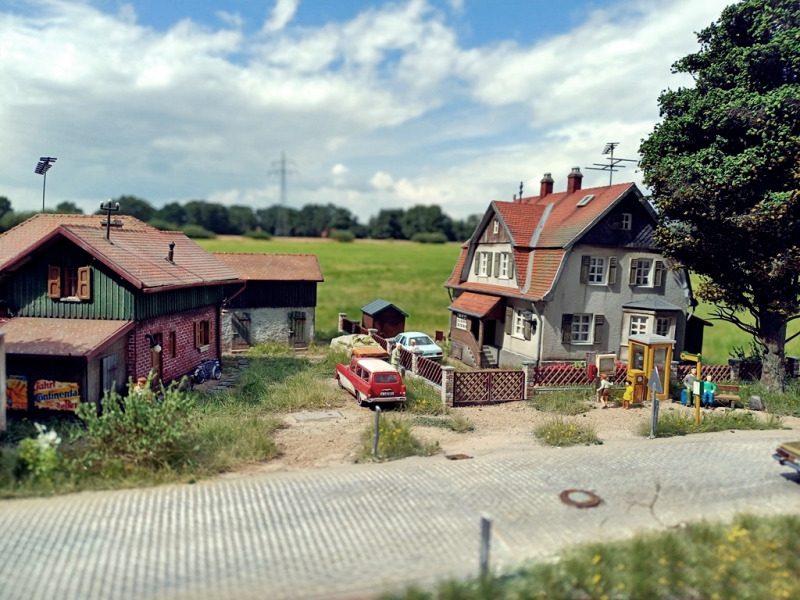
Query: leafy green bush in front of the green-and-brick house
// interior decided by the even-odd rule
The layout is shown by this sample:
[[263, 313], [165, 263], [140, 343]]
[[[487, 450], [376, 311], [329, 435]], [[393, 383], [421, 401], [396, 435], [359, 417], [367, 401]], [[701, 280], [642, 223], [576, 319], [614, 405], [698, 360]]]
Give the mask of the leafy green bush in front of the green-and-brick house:
[[141, 393], [129, 381], [127, 397], [112, 391], [100, 403], [100, 414], [92, 403], [78, 405], [78, 418], [86, 424], [84, 462], [171, 466], [178, 447], [191, 435], [193, 403], [178, 384], [162, 386], [157, 396], [150, 381]]

